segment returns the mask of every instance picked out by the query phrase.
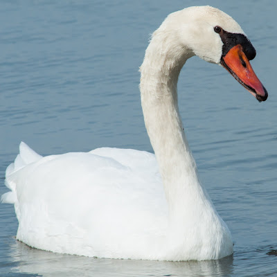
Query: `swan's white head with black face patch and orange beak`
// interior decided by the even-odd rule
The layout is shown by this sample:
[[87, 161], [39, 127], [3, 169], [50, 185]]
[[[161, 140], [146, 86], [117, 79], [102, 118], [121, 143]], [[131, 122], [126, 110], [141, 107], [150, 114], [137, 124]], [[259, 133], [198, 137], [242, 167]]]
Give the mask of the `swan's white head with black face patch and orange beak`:
[[190, 7], [169, 15], [161, 25], [168, 27], [190, 55], [220, 64], [258, 101], [267, 100], [267, 90], [249, 62], [256, 50], [232, 17], [210, 6]]

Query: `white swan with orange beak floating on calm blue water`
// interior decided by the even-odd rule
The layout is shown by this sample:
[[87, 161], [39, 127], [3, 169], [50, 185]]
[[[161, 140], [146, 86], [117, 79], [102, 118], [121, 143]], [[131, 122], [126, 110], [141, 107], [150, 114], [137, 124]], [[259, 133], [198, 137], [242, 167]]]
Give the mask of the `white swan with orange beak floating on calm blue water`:
[[231, 233], [197, 177], [179, 115], [177, 81], [197, 55], [223, 66], [256, 99], [267, 91], [240, 25], [211, 6], [173, 12], [141, 65], [141, 105], [155, 154], [98, 148], [42, 157], [25, 143], [6, 169], [17, 240], [99, 258], [213, 260], [233, 253]]

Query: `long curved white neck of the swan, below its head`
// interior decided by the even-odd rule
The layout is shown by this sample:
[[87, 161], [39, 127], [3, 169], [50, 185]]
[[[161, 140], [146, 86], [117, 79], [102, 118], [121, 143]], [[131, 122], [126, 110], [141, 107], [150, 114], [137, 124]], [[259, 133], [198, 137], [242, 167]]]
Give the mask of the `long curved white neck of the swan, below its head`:
[[199, 184], [178, 108], [179, 73], [193, 53], [177, 44], [168, 46], [169, 41], [166, 35], [152, 38], [141, 66], [140, 87], [145, 127], [159, 163], [170, 219], [179, 221], [195, 206], [210, 201]]

